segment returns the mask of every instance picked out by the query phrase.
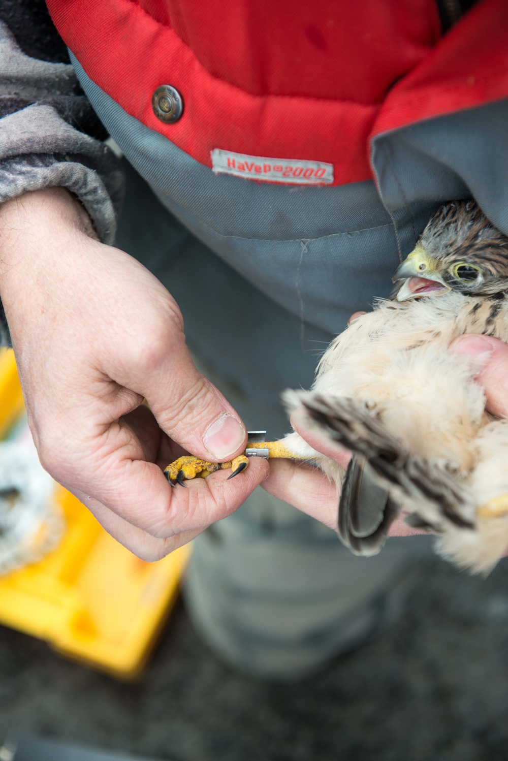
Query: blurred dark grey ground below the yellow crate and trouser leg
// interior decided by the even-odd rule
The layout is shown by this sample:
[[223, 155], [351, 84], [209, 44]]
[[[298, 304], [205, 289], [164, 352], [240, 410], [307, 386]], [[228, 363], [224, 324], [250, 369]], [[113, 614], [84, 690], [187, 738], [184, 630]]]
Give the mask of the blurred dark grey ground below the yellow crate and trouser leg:
[[508, 757], [508, 563], [482, 581], [429, 562], [404, 620], [292, 685], [221, 664], [179, 606], [135, 685], [0, 629], [0, 735], [174, 761]]

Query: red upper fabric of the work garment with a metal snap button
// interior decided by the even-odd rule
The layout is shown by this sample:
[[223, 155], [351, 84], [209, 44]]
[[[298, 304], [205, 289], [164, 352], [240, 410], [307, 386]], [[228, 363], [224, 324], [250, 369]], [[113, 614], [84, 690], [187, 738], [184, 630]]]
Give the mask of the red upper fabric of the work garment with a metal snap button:
[[[482, 0], [444, 37], [434, 0], [48, 6], [88, 76], [209, 167], [218, 148], [331, 164], [334, 185], [367, 180], [374, 135], [508, 95], [506, 0]], [[183, 95], [176, 123], [152, 110], [161, 84]]]

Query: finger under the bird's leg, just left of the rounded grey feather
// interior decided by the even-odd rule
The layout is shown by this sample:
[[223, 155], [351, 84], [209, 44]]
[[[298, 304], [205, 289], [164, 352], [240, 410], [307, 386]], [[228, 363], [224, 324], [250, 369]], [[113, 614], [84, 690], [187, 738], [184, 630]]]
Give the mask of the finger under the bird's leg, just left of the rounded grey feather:
[[293, 460], [272, 460], [263, 489], [336, 530], [337, 488], [317, 468]]

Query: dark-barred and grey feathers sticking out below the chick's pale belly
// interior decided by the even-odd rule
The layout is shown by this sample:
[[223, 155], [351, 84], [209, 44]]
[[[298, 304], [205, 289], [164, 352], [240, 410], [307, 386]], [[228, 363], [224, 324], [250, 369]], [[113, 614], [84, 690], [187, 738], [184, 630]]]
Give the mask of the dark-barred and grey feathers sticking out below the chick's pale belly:
[[354, 552], [379, 552], [402, 503], [411, 508], [413, 526], [437, 533], [450, 524], [474, 527], [459, 474], [412, 455], [386, 430], [376, 409], [345, 397], [297, 393], [319, 427], [356, 455], [344, 479], [338, 518], [341, 538]]

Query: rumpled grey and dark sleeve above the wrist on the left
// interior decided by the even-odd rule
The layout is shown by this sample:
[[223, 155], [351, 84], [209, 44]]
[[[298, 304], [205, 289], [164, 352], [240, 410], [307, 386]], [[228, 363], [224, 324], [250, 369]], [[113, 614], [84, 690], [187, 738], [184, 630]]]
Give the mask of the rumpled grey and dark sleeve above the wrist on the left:
[[28, 56], [0, 21], [0, 202], [64, 186], [111, 244], [122, 174], [94, 121], [71, 64]]

